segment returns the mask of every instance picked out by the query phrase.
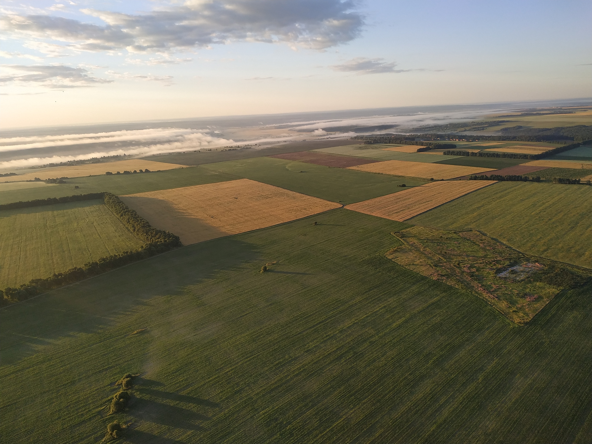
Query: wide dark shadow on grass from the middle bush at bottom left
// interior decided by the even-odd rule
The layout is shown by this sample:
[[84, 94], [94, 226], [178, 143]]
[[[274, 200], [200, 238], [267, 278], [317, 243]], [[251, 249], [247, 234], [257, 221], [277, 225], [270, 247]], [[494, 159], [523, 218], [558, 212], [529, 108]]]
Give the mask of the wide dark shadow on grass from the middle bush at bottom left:
[[130, 415], [137, 420], [185, 430], [204, 430], [204, 427], [197, 422], [210, 420], [209, 416], [187, 408], [170, 406], [144, 398], [134, 400]]

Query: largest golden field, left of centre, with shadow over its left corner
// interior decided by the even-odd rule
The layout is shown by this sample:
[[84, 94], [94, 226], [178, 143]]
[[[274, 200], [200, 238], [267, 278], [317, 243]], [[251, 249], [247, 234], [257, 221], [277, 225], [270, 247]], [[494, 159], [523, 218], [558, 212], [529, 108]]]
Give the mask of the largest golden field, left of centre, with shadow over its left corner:
[[185, 245], [258, 230], [342, 205], [250, 179], [122, 196], [128, 207]]

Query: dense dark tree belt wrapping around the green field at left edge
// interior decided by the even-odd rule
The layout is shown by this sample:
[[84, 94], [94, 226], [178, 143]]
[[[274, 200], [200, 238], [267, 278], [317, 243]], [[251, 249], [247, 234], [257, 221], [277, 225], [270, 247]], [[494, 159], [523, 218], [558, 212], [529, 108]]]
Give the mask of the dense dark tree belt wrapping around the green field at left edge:
[[[86, 197], [86, 199], [81, 197]], [[83, 279], [103, 274], [112, 269], [127, 265], [128, 263], [150, 258], [151, 256], [155, 256], [182, 246], [179, 236], [175, 236], [175, 234], [169, 233], [168, 231], [153, 228], [150, 226], [147, 220], [140, 217], [136, 211], [128, 208], [127, 205], [120, 200], [120, 198], [114, 194], [111, 194], [110, 192], [74, 195], [67, 198], [50, 198], [48, 200], [14, 202], [15, 204], [21, 204], [21, 206], [14, 208], [49, 205], [48, 203], [32, 204], [32, 202], [38, 201], [47, 202], [49, 200], [56, 200], [56, 202], [53, 203], [62, 203], [63, 201], [73, 202], [96, 199], [100, 197], [104, 198], [105, 206], [109, 208], [113, 214], [115, 214], [121, 220], [121, 222], [132, 233], [134, 233], [134, 235], [146, 242], [146, 244], [140, 246], [140, 248], [137, 250], [126, 251], [118, 255], [103, 256], [97, 260], [86, 262], [81, 267], [72, 267], [65, 272], [54, 273], [53, 276], [50, 276], [49, 278], [31, 279], [31, 281], [29, 281], [27, 284], [22, 284], [18, 288], [7, 287], [4, 289], [4, 291], [0, 290], [0, 305], [4, 306], [10, 303], [24, 301], [28, 298], [49, 291], [50, 289], [59, 288], [67, 284], [73, 284], [74, 282], [82, 281]], [[6, 205], [13, 204], [5, 204], [1, 205], [0, 207], [4, 207]]]

